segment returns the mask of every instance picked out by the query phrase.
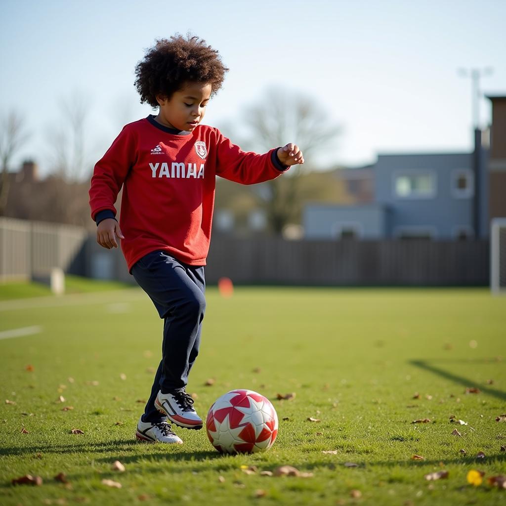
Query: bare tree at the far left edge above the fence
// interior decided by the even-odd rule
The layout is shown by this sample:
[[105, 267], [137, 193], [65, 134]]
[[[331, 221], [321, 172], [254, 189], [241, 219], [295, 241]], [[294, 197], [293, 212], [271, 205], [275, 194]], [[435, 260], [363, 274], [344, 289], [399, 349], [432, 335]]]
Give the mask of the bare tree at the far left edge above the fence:
[[2, 178], [0, 180], [0, 216], [4, 216], [9, 196], [9, 164], [19, 147], [28, 138], [24, 132], [23, 117], [11, 111], [0, 120], [0, 162]]

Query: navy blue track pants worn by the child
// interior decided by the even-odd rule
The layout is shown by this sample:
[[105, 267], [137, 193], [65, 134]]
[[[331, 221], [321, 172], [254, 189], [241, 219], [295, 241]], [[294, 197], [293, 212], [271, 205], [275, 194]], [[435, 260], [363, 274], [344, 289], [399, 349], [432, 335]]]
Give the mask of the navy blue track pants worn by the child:
[[143, 421], [156, 423], [163, 418], [154, 406], [158, 391], [183, 390], [198, 355], [205, 312], [204, 267], [151, 251], [134, 264], [132, 274], [164, 321], [162, 358], [142, 415]]

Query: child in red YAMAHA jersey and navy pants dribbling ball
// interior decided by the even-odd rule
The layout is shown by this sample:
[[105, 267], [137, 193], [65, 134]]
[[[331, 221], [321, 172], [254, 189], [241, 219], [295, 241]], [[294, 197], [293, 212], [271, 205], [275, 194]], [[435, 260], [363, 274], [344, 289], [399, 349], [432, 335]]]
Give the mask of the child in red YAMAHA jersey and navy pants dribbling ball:
[[[294, 144], [263, 155], [243, 152], [199, 124], [226, 71], [218, 52], [198, 37], [157, 40], [137, 64], [135, 85], [141, 103], [159, 107], [158, 114], [125, 125], [91, 180], [97, 242], [110, 249], [121, 239], [129, 272], [164, 320], [162, 359], [137, 426], [143, 441], [181, 444], [167, 420], [202, 428], [185, 387], [204, 318], [216, 176], [255, 184], [304, 163]], [[114, 202], [121, 186], [118, 224]]]

